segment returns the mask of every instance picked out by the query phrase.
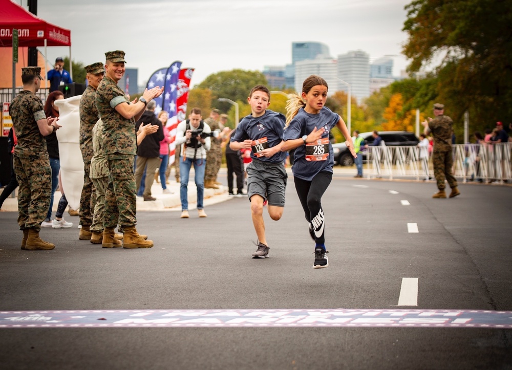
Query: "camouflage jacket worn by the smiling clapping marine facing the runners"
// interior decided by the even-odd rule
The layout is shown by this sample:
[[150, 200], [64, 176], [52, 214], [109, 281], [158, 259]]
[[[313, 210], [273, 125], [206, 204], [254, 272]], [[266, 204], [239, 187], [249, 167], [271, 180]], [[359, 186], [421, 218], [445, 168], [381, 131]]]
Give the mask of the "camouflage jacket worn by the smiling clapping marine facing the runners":
[[103, 150], [105, 154], [137, 155], [135, 120], [117, 113], [118, 104], [130, 104], [117, 83], [105, 76], [96, 90], [96, 107], [103, 121]]

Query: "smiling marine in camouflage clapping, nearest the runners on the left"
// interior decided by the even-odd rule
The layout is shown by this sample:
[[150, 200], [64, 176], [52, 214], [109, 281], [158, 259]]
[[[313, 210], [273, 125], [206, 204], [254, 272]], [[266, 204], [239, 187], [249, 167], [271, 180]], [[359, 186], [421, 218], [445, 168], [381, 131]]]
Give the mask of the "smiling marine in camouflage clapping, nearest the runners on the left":
[[109, 166], [109, 185], [105, 194], [105, 218], [102, 244], [115, 243], [114, 228], [123, 230], [123, 248], [151, 248], [135, 229], [137, 222], [134, 157], [137, 154], [135, 121], [144, 112], [147, 102], [162, 94], [157, 86], [144, 90], [142, 97], [130, 102], [117, 82], [125, 72], [124, 52], [105, 53], [105, 77], [96, 90], [96, 106], [103, 121], [102, 146]]

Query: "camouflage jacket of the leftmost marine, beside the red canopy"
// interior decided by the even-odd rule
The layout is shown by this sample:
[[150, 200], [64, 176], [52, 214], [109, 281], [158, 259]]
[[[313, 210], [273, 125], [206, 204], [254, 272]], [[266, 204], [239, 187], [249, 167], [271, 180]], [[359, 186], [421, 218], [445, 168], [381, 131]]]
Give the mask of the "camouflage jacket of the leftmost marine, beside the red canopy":
[[46, 119], [41, 99], [34, 93], [23, 90], [12, 99], [9, 114], [18, 139], [14, 155], [18, 158], [49, 159], [45, 137], [37, 126], [37, 121]]

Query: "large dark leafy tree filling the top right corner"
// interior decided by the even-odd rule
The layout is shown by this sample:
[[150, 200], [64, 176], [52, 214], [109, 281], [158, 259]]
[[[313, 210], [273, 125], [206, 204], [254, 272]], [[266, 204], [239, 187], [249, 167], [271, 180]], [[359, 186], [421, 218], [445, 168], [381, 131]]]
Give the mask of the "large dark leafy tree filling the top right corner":
[[[409, 34], [403, 53], [410, 72], [437, 62], [437, 101], [454, 122], [470, 112], [472, 129], [510, 116], [512, 108], [512, 2], [415, 0], [406, 6]], [[431, 108], [429, 109], [431, 114]], [[490, 121], [490, 122], [489, 122]]]

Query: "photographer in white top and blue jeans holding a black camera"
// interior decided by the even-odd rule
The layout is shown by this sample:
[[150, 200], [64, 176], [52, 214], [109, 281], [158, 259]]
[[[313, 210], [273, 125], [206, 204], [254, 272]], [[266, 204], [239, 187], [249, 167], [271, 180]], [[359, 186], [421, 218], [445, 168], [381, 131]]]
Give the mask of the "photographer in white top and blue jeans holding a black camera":
[[203, 122], [201, 110], [192, 108], [188, 119], [178, 124], [176, 145], [182, 145], [180, 157], [180, 197], [181, 218], [188, 219], [188, 176], [194, 164], [195, 182], [197, 187], [197, 210], [199, 217], [206, 217], [203, 209], [204, 170], [206, 167], [206, 151], [210, 149], [210, 127]]

